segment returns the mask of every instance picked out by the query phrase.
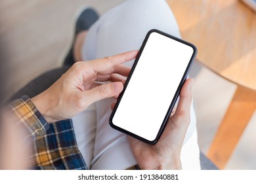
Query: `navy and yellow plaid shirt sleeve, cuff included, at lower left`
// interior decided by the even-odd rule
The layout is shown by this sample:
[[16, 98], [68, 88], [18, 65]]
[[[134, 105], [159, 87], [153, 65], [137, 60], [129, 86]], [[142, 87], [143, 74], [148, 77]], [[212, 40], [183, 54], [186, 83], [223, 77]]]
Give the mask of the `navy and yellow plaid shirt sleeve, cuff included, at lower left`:
[[13, 101], [11, 108], [33, 137], [34, 169], [87, 169], [71, 119], [48, 124], [27, 96]]

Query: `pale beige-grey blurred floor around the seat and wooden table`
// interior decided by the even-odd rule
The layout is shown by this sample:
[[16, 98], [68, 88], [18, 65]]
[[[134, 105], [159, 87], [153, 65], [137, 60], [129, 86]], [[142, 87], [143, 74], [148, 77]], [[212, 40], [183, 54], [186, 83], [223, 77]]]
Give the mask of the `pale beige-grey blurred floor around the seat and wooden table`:
[[[100, 14], [123, 0], [0, 1], [0, 36], [7, 53], [9, 78], [5, 90], [16, 92], [41, 73], [58, 67], [72, 42], [77, 9], [95, 7]], [[193, 97], [198, 119], [198, 142], [207, 152], [236, 85], [199, 63], [192, 67]], [[7, 97], [8, 97], [7, 95]], [[256, 113], [247, 125], [225, 169], [256, 169]]]

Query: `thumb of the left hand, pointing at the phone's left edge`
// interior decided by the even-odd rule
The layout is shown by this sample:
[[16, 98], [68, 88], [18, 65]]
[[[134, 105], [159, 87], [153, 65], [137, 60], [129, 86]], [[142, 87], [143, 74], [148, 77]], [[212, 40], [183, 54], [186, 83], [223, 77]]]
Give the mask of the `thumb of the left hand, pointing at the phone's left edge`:
[[88, 106], [96, 101], [101, 99], [106, 99], [114, 97], [123, 90], [123, 84], [121, 82], [111, 82], [108, 84], [102, 84], [91, 90], [84, 92], [85, 100], [87, 101]]

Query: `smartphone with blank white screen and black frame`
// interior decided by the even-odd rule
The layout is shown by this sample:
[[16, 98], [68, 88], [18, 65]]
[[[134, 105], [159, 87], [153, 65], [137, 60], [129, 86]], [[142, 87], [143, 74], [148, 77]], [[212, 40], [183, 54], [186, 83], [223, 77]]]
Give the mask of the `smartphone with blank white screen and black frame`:
[[140, 141], [156, 144], [196, 53], [193, 44], [150, 30], [110, 115], [110, 125]]

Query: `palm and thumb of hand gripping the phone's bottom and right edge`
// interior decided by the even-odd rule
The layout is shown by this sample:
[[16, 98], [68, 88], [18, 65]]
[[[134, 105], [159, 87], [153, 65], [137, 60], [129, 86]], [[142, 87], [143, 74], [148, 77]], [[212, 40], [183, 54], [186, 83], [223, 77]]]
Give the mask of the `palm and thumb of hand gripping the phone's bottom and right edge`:
[[188, 78], [182, 86], [177, 109], [171, 114], [157, 144], [152, 146], [128, 137], [140, 169], [182, 169], [181, 148], [190, 124], [192, 83], [192, 78]]

